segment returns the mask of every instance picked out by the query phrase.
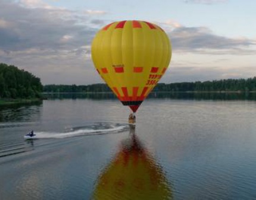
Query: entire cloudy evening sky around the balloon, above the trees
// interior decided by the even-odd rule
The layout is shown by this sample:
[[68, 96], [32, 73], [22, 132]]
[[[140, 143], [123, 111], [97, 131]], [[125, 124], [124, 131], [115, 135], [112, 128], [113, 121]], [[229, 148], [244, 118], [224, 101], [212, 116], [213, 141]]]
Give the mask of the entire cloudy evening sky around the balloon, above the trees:
[[0, 0], [0, 63], [42, 84], [103, 82], [92, 39], [114, 21], [144, 20], [166, 31], [172, 58], [160, 82], [256, 75], [256, 1]]

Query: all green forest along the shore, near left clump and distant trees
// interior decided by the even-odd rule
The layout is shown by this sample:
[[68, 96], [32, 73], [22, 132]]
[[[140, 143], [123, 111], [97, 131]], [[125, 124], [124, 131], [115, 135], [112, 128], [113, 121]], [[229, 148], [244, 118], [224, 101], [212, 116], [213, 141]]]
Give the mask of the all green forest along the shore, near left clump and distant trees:
[[[110, 92], [106, 84], [42, 85], [40, 78], [16, 66], [0, 64], [0, 99], [33, 99], [45, 93]], [[214, 81], [159, 83], [153, 91], [161, 92], [250, 92], [256, 91], [256, 77]]]

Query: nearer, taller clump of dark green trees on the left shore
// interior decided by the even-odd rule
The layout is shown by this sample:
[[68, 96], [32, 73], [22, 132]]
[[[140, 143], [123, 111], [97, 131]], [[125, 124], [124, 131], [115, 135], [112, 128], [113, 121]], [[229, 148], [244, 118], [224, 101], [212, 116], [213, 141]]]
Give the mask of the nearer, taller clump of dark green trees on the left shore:
[[41, 97], [40, 78], [14, 65], [0, 64], [0, 99], [32, 99]]

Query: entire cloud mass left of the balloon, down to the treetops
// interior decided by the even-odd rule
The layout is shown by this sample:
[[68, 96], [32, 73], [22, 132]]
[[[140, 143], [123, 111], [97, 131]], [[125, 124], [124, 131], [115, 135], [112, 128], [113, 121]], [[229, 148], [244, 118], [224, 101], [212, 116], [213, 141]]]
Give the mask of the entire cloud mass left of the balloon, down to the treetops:
[[0, 1], [0, 61], [29, 70], [43, 84], [100, 82], [87, 64], [97, 31], [92, 18], [40, 3]]

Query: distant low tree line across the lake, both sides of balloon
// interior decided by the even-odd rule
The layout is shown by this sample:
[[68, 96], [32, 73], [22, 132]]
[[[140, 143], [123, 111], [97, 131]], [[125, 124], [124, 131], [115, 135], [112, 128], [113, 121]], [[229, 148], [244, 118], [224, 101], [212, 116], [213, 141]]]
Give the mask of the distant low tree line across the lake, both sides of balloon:
[[[45, 85], [44, 92], [52, 93], [85, 93], [109, 92], [107, 84], [92, 85]], [[226, 79], [214, 81], [158, 83], [153, 91], [256, 91], [256, 77], [248, 79]]]

